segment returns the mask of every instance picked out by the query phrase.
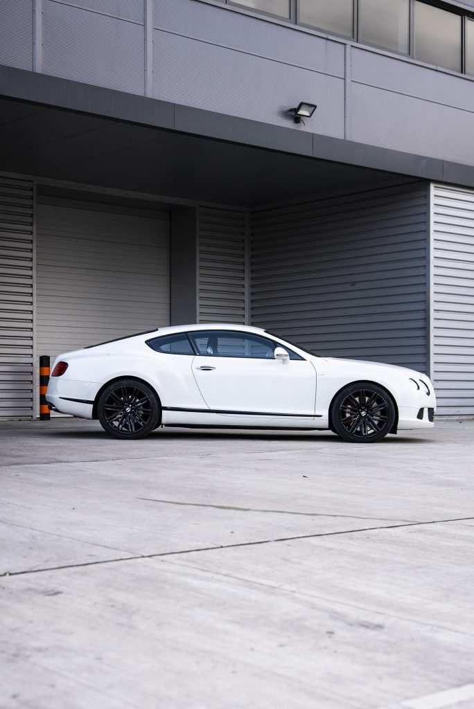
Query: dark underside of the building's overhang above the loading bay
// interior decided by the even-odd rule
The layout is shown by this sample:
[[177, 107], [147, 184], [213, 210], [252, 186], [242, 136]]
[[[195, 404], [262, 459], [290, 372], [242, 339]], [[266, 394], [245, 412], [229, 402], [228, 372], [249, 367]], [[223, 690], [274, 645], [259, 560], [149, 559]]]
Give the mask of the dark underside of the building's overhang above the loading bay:
[[0, 99], [0, 170], [236, 206], [407, 179], [11, 99]]

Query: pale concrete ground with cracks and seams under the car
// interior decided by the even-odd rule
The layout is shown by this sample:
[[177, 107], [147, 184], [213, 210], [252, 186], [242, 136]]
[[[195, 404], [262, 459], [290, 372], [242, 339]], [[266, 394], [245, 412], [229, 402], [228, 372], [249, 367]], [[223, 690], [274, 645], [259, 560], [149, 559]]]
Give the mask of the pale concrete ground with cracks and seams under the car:
[[0, 425], [2, 709], [474, 707], [474, 422]]

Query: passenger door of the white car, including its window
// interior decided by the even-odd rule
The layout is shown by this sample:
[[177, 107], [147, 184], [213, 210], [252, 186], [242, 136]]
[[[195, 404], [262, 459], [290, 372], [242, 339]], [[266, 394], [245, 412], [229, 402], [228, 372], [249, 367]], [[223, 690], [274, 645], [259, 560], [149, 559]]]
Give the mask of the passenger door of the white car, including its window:
[[279, 343], [253, 333], [189, 333], [197, 351], [192, 371], [204, 401], [217, 413], [312, 416], [316, 371], [296, 352], [275, 359]]

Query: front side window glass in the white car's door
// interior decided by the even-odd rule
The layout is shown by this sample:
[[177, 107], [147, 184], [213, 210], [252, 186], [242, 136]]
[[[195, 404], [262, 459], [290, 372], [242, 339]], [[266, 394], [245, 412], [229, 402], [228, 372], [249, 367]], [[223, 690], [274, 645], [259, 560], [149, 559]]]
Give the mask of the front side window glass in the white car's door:
[[[250, 359], [274, 359], [278, 342], [251, 333], [233, 333], [228, 330], [202, 330], [189, 333], [199, 354], [207, 357], [249, 357]], [[287, 348], [283, 348], [287, 349]], [[303, 359], [287, 350], [290, 359]]]

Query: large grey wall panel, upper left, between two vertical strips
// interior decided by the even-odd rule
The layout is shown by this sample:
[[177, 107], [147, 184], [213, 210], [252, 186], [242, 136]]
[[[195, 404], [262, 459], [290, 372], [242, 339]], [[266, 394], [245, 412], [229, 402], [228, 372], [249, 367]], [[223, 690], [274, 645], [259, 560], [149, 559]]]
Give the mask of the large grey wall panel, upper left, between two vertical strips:
[[143, 25], [45, 0], [43, 71], [143, 94]]

